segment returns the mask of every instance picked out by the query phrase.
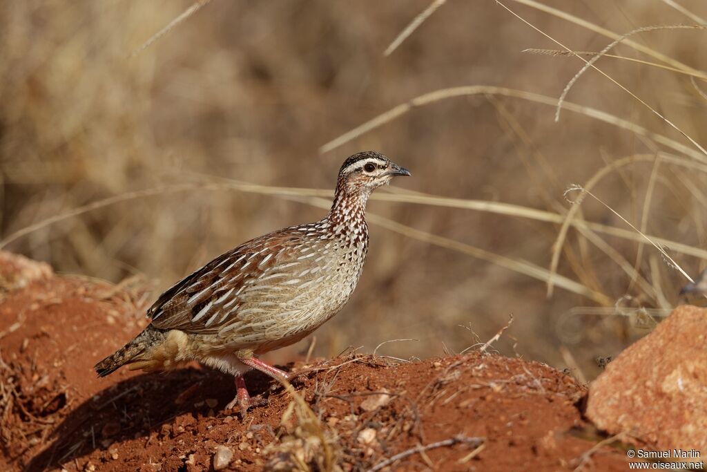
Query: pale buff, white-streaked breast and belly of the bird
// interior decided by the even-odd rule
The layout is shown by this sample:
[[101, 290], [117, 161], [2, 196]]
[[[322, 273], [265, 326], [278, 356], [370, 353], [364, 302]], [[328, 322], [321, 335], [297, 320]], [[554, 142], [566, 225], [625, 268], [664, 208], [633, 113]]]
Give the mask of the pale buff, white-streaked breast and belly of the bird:
[[286, 262], [243, 290], [236, 318], [219, 333], [223, 342], [256, 354], [291, 345], [346, 304], [361, 276], [368, 238], [314, 229], [288, 251]]

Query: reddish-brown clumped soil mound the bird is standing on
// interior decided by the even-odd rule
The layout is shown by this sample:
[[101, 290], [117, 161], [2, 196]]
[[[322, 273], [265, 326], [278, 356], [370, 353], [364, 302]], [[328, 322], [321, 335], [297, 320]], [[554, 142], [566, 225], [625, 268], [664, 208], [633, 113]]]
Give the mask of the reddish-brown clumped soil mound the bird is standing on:
[[96, 360], [146, 323], [136, 316], [139, 290], [43, 266], [13, 271], [0, 295], [3, 471], [627, 468], [616, 449], [585, 454], [598, 440], [578, 409], [585, 386], [537, 362], [481, 352], [412, 363], [319, 359], [294, 392], [253, 372], [251, 393], [270, 403], [245, 421], [223, 410], [233, 379], [209, 369], [122, 369], [98, 379]]

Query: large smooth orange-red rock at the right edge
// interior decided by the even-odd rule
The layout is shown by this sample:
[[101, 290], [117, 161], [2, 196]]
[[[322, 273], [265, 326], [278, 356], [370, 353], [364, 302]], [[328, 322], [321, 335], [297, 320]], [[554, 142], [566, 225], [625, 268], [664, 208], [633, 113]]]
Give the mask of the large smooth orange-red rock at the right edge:
[[592, 382], [586, 412], [660, 451], [707, 454], [707, 309], [679, 306]]

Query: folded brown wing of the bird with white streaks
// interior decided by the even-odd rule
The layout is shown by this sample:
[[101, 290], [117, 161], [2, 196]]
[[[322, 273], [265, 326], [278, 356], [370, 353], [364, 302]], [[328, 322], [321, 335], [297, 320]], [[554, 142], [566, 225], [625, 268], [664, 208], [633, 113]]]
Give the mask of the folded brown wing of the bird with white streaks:
[[284, 229], [260, 236], [219, 255], [177, 282], [150, 307], [147, 315], [160, 329], [217, 333], [238, 318], [238, 309], [258, 280], [273, 267], [295, 260], [305, 233]]

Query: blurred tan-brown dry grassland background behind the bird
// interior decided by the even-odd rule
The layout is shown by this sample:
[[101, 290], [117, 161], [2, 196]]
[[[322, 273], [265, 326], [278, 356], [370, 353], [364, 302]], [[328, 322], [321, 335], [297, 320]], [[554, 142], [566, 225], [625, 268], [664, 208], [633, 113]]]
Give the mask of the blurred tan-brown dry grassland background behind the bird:
[[[612, 41], [522, 4], [527, 2], [505, 3], [573, 50], [597, 52]], [[707, 18], [704, 1], [678, 3], [544, 0], [619, 34]], [[412, 178], [396, 182], [405, 190], [561, 214], [571, 207], [563, 198], [568, 185], [586, 183], [618, 159], [668, 150], [676, 159], [699, 162], [699, 156], [582, 114], [565, 110], [556, 123], [552, 106], [484, 94], [414, 108], [320, 154], [331, 139], [423, 93], [491, 85], [557, 98], [583, 65], [576, 57], [523, 52], [559, 46], [490, 0], [447, 1], [384, 57], [390, 42], [429, 4], [214, 0], [130, 57], [192, 3], [3, 2], [2, 236], [105, 197], [162, 185], [233, 178], [330, 190], [341, 161], [365, 149], [411, 169]], [[707, 67], [706, 35], [699, 29], [656, 30], [631, 40], [693, 68], [695, 83], [707, 90], [699, 72]], [[597, 66], [696, 142], [707, 143], [707, 100], [686, 69], [630, 62], [626, 58], [676, 69], [627, 45], [611, 53], [624, 59], [604, 57]], [[587, 71], [568, 100], [697, 150], [597, 71]], [[636, 226], [643, 221], [649, 234], [702, 248], [704, 183], [699, 168], [644, 160], [610, 171], [593, 192]], [[559, 231], [559, 224], [433, 205], [373, 201], [369, 210], [544, 268]], [[60, 272], [112, 282], [142, 275], [165, 289], [249, 238], [322, 214], [271, 195], [163, 192], [65, 219], [6, 249], [45, 260]], [[589, 198], [580, 217], [628, 229]], [[560, 288], [548, 299], [544, 282], [508, 268], [380, 227], [370, 232], [361, 283], [344, 311], [317, 331], [315, 355], [336, 355], [349, 345], [370, 352], [395, 338], [419, 341], [389, 343], [379, 353], [459, 352], [491, 338], [513, 313], [498, 350], [555, 367], [572, 364], [573, 357], [593, 376], [595, 357], [615, 355], [650, 329], [648, 315], [660, 311], [643, 309], [665, 311], [681, 301], [677, 292], [684, 279], [654, 248], [639, 249], [625, 238], [600, 235], [629, 266], [636, 265], [653, 294], [632, 283], [607, 251], [575, 229], [568, 232], [559, 272], [609, 300], [597, 304]], [[671, 255], [691, 275], [702, 267], [700, 258]], [[588, 314], [582, 308], [587, 306], [601, 309]], [[305, 341], [271, 359], [284, 362], [307, 347]]]

